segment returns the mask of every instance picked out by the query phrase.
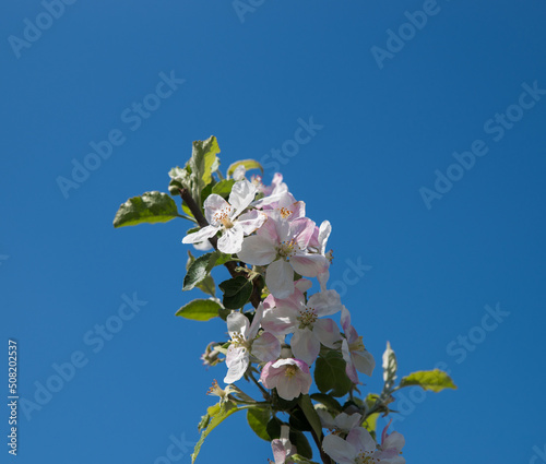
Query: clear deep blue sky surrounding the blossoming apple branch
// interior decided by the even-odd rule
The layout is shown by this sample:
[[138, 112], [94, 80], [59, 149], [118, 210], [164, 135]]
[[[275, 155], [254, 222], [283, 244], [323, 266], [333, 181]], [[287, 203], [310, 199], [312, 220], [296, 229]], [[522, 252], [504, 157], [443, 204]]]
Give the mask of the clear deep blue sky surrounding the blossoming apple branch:
[[[230, 1], [96, 0], [48, 22], [37, 0], [3, 2], [2, 395], [9, 337], [25, 398], [54, 365], [86, 364], [41, 409], [25, 417], [20, 406], [19, 455], [2, 444], [2, 462], [177, 462], [161, 459], [171, 437], [197, 441], [214, 401], [205, 391], [225, 372], [206, 371], [199, 355], [225, 326], [174, 316], [199, 296], [181, 292], [189, 224], [115, 230], [111, 221], [129, 197], [166, 191], [167, 171], [211, 134], [224, 167], [253, 157], [271, 179], [266, 155], [293, 147], [299, 118], [322, 128], [280, 168], [308, 215], [333, 225], [332, 282], [345, 285], [368, 349], [379, 364], [389, 340], [402, 374], [443, 361], [459, 385], [425, 400], [406, 392], [394, 426], [407, 462], [527, 463], [544, 450], [546, 95], [511, 105], [525, 83], [546, 88], [546, 3], [438, 0], [420, 29], [404, 26], [405, 12], [423, 9], [269, 0], [241, 21]], [[49, 25], [37, 39], [36, 22]], [[24, 39], [25, 28], [34, 41], [20, 48], [9, 37]], [[399, 49], [391, 39], [397, 51], [378, 63], [371, 48], [387, 49], [388, 29], [407, 40]], [[183, 84], [136, 127], [127, 108], [171, 72]], [[501, 133], [487, 121], [507, 109], [514, 122]], [[116, 129], [123, 143], [63, 195], [59, 176], [71, 179], [73, 160]], [[427, 209], [419, 189], [434, 190], [435, 170], [446, 175], [453, 152], [476, 140], [487, 154], [452, 167], [462, 179]], [[347, 260], [371, 269], [354, 283]], [[95, 325], [134, 293], [147, 304], [97, 342]], [[485, 307], [497, 304], [502, 322], [485, 319]], [[459, 337], [468, 335], [465, 348]], [[380, 384], [377, 370], [365, 390]], [[233, 416], [200, 461], [266, 457], [269, 444]]]

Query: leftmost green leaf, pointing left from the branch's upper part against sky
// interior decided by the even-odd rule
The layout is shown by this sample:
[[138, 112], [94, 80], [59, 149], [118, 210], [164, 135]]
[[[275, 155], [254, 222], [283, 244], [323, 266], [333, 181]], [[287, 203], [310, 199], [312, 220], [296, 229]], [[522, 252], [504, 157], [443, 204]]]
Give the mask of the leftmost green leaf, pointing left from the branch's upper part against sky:
[[146, 192], [141, 197], [127, 200], [119, 206], [114, 218], [114, 227], [167, 223], [178, 216], [175, 200], [167, 193]]

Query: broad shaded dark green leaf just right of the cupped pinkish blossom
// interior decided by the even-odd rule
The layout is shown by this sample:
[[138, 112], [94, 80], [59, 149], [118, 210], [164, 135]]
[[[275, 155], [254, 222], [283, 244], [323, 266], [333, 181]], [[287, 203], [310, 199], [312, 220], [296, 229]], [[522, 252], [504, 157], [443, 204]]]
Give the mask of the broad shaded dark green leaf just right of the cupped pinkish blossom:
[[345, 373], [345, 361], [340, 353], [329, 350], [317, 358], [314, 382], [322, 393], [330, 393], [332, 396], [340, 397], [349, 392], [353, 382]]

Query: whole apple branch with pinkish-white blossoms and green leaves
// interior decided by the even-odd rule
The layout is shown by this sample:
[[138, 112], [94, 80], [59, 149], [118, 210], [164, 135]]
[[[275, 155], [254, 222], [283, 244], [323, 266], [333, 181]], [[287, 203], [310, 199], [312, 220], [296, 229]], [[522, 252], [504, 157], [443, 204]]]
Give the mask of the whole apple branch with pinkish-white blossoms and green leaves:
[[[114, 221], [121, 227], [182, 217], [193, 223], [182, 242], [204, 252], [198, 258], [188, 252], [183, 290], [199, 288], [207, 298], [190, 301], [177, 316], [225, 321], [226, 338], [210, 343], [202, 359], [210, 367], [225, 362], [227, 386], [215, 382], [209, 392], [219, 403], [202, 417], [192, 462], [216, 426], [245, 411], [252, 431], [271, 442], [275, 464], [313, 463], [309, 439], [322, 463], [405, 463], [404, 438], [389, 435], [390, 424], [381, 440], [376, 437], [393, 393], [408, 385], [440, 391], [454, 384], [439, 370], [414, 372], [396, 384], [396, 357], [388, 344], [383, 390], [359, 397], [359, 376], [370, 377], [376, 361], [349, 310], [329, 288], [330, 222], [318, 225], [307, 217], [305, 202], [281, 174], [269, 186], [249, 176], [261, 169], [252, 159], [234, 163], [224, 176], [214, 136], [194, 142], [186, 166], [170, 170], [169, 193], [181, 198], [182, 214], [167, 193], [147, 192], [122, 204]], [[215, 267], [229, 273], [217, 286], [222, 298]], [[262, 397], [245, 393], [242, 381]]]

